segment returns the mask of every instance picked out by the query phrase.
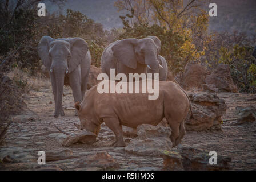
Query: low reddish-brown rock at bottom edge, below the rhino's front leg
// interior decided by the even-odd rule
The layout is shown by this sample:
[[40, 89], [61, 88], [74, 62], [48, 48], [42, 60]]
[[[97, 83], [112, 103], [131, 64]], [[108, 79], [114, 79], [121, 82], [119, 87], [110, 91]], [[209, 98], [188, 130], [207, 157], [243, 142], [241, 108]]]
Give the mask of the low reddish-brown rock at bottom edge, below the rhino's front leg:
[[101, 170], [118, 169], [119, 163], [108, 152], [87, 155], [75, 162], [77, 168], [100, 168]]

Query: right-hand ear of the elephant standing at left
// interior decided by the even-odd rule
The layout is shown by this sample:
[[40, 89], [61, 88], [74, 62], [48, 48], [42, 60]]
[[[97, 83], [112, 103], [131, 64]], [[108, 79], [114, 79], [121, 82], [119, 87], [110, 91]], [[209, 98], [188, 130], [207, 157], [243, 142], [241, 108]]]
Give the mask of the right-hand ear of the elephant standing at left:
[[88, 44], [82, 38], [68, 38], [66, 41], [70, 43], [71, 55], [68, 62], [70, 73], [82, 63], [83, 59], [85, 59], [88, 52]]

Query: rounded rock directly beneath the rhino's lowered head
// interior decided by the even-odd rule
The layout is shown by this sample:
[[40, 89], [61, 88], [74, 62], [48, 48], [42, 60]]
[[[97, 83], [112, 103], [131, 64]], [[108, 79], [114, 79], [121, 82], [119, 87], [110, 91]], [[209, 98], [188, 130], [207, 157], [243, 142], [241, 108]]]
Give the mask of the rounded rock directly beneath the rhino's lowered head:
[[75, 143], [93, 144], [96, 141], [96, 137], [94, 133], [85, 129], [74, 131], [63, 140], [62, 146], [70, 146]]

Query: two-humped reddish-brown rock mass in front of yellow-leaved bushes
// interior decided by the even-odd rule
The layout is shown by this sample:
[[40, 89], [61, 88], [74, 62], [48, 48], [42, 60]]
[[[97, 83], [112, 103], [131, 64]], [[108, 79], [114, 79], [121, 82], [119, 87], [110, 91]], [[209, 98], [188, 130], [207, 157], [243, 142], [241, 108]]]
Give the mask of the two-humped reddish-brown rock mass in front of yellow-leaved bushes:
[[189, 63], [182, 77], [179, 78], [179, 82], [185, 90], [237, 93], [237, 86], [234, 85], [227, 64], [219, 64], [207, 70], [202, 64]]

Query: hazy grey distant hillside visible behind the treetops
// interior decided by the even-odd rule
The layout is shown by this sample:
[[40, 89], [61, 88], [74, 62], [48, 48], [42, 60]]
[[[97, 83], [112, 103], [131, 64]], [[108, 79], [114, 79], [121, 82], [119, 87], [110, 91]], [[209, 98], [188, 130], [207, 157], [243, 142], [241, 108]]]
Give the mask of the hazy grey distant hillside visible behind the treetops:
[[[106, 29], [121, 28], [122, 21], [119, 15], [125, 14], [118, 12], [114, 7], [116, 0], [67, 0], [61, 13], [66, 9], [79, 10], [95, 22], [103, 24]], [[214, 2], [218, 7], [218, 17], [211, 17], [209, 22], [210, 31], [245, 31], [247, 34], [256, 33], [256, 0], [206, 0]], [[206, 3], [204, 9], [209, 9]], [[47, 4], [49, 6], [47, 6]], [[59, 11], [58, 6], [46, 2], [46, 8], [51, 12]]]

